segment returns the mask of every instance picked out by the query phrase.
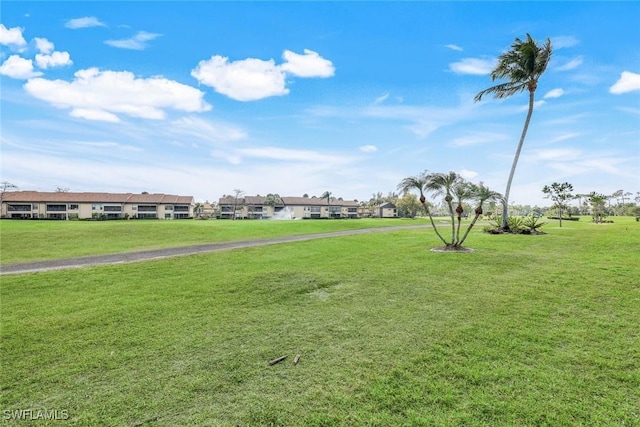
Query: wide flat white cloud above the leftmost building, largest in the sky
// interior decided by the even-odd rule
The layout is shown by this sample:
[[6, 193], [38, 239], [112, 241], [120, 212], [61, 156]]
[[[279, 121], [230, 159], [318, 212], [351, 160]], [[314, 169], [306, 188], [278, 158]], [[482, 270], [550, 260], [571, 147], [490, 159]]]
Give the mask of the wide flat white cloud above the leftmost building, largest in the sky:
[[32, 96], [71, 115], [90, 120], [116, 121], [118, 115], [164, 119], [165, 109], [207, 111], [204, 93], [163, 77], [136, 78], [127, 71], [80, 70], [74, 80], [34, 78], [24, 85]]

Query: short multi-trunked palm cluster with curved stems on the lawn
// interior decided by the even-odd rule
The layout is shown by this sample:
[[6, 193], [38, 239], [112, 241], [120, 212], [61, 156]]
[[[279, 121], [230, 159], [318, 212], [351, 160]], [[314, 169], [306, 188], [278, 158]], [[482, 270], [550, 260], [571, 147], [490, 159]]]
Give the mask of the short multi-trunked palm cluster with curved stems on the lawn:
[[[420, 193], [420, 203], [422, 204], [425, 214], [429, 217], [431, 225], [440, 241], [444, 244], [445, 249], [462, 250], [462, 244], [469, 236], [469, 232], [483, 214], [483, 205], [488, 201], [502, 200], [502, 195], [490, 190], [482, 182], [474, 184], [462, 178], [455, 172], [449, 173], [429, 173], [424, 171], [417, 176], [410, 176], [403, 179], [398, 184], [398, 190], [407, 193], [417, 190]], [[451, 216], [451, 237], [445, 238], [433, 220], [433, 216], [427, 202], [425, 193], [433, 193], [436, 197], [442, 197]], [[460, 236], [460, 228], [462, 218], [465, 214], [465, 202], [475, 202], [474, 217], [468, 225], [465, 233]]]

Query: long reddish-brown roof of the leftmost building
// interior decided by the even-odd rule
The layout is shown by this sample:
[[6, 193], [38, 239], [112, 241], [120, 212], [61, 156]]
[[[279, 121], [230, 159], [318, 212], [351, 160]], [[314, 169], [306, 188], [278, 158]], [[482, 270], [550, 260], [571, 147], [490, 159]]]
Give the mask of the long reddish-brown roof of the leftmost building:
[[2, 195], [3, 202], [59, 202], [59, 203], [153, 203], [153, 204], [193, 204], [193, 196], [172, 194], [133, 194], [133, 193], [71, 193], [66, 191], [7, 191]]

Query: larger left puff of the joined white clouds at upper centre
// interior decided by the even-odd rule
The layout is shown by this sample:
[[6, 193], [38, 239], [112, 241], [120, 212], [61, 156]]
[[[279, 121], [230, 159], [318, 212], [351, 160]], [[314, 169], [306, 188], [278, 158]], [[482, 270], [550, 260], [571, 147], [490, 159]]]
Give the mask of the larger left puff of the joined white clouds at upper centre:
[[200, 61], [191, 75], [201, 84], [237, 101], [255, 101], [289, 93], [284, 74], [273, 59], [248, 58], [229, 62], [229, 58], [215, 55]]

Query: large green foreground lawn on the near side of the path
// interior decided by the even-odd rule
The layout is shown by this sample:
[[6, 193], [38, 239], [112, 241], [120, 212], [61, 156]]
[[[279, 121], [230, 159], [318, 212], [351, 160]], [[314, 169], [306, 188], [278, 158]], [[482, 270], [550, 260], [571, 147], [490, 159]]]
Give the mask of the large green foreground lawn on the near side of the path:
[[0, 410], [76, 425], [639, 425], [640, 226], [615, 220], [475, 232], [466, 254], [402, 230], [3, 276]]

